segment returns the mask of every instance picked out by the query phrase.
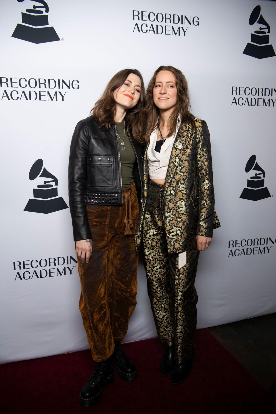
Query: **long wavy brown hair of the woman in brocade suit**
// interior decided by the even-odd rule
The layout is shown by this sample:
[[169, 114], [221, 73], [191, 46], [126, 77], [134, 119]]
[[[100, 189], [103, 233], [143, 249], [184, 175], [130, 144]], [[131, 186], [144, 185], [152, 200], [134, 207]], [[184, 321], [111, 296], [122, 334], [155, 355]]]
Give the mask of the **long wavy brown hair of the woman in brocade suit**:
[[173, 112], [170, 115], [170, 124], [169, 124], [169, 133], [168, 136], [175, 133], [176, 124], [178, 120], [178, 115], [181, 115], [182, 122], [192, 121], [194, 116], [190, 112], [190, 96], [188, 91], [188, 83], [181, 72], [181, 70], [176, 69], [173, 66], [159, 66], [158, 69], [154, 72], [153, 77], [149, 81], [149, 86], [146, 90], [146, 107], [144, 109], [144, 118], [146, 119], [147, 125], [144, 133], [144, 140], [149, 142], [151, 132], [157, 127], [157, 125], [162, 126], [163, 120], [160, 116], [159, 108], [154, 103], [153, 90], [156, 80], [156, 75], [161, 70], [169, 70], [175, 76], [175, 86], [177, 88], [177, 100]]

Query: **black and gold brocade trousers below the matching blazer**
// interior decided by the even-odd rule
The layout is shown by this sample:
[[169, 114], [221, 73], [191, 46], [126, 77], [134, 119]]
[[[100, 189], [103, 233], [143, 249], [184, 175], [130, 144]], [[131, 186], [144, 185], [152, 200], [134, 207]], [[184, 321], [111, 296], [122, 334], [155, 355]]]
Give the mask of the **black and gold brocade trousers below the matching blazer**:
[[173, 345], [175, 363], [194, 356], [197, 327], [197, 291], [194, 279], [199, 252], [187, 251], [186, 265], [178, 269], [178, 254], [169, 254], [162, 211], [163, 185], [149, 185], [143, 225], [144, 257], [149, 297], [158, 335]]

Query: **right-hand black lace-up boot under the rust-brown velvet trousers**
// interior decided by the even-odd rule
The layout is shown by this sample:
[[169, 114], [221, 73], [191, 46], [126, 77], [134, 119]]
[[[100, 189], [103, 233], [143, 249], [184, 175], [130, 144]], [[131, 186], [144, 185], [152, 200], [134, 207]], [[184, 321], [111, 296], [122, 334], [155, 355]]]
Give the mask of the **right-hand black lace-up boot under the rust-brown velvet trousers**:
[[111, 355], [113, 364], [116, 367], [117, 374], [122, 380], [134, 381], [137, 378], [136, 366], [132, 360], [125, 354], [120, 341], [114, 341], [115, 348]]

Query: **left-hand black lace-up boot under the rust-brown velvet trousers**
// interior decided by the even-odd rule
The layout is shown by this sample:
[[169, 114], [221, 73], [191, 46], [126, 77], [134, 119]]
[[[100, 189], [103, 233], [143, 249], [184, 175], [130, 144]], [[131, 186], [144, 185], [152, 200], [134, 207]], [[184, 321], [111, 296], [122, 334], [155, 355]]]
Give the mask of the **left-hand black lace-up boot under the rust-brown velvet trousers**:
[[93, 374], [87, 383], [84, 384], [79, 394], [79, 404], [82, 407], [92, 407], [101, 400], [103, 389], [113, 380], [114, 371], [111, 359], [108, 358], [106, 361], [96, 362]]

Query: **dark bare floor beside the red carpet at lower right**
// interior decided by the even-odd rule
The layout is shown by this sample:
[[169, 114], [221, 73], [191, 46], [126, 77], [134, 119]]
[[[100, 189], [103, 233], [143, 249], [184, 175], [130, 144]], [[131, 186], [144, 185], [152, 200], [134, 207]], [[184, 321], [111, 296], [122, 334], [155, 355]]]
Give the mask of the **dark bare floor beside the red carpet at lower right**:
[[276, 398], [276, 313], [214, 326], [209, 332]]

